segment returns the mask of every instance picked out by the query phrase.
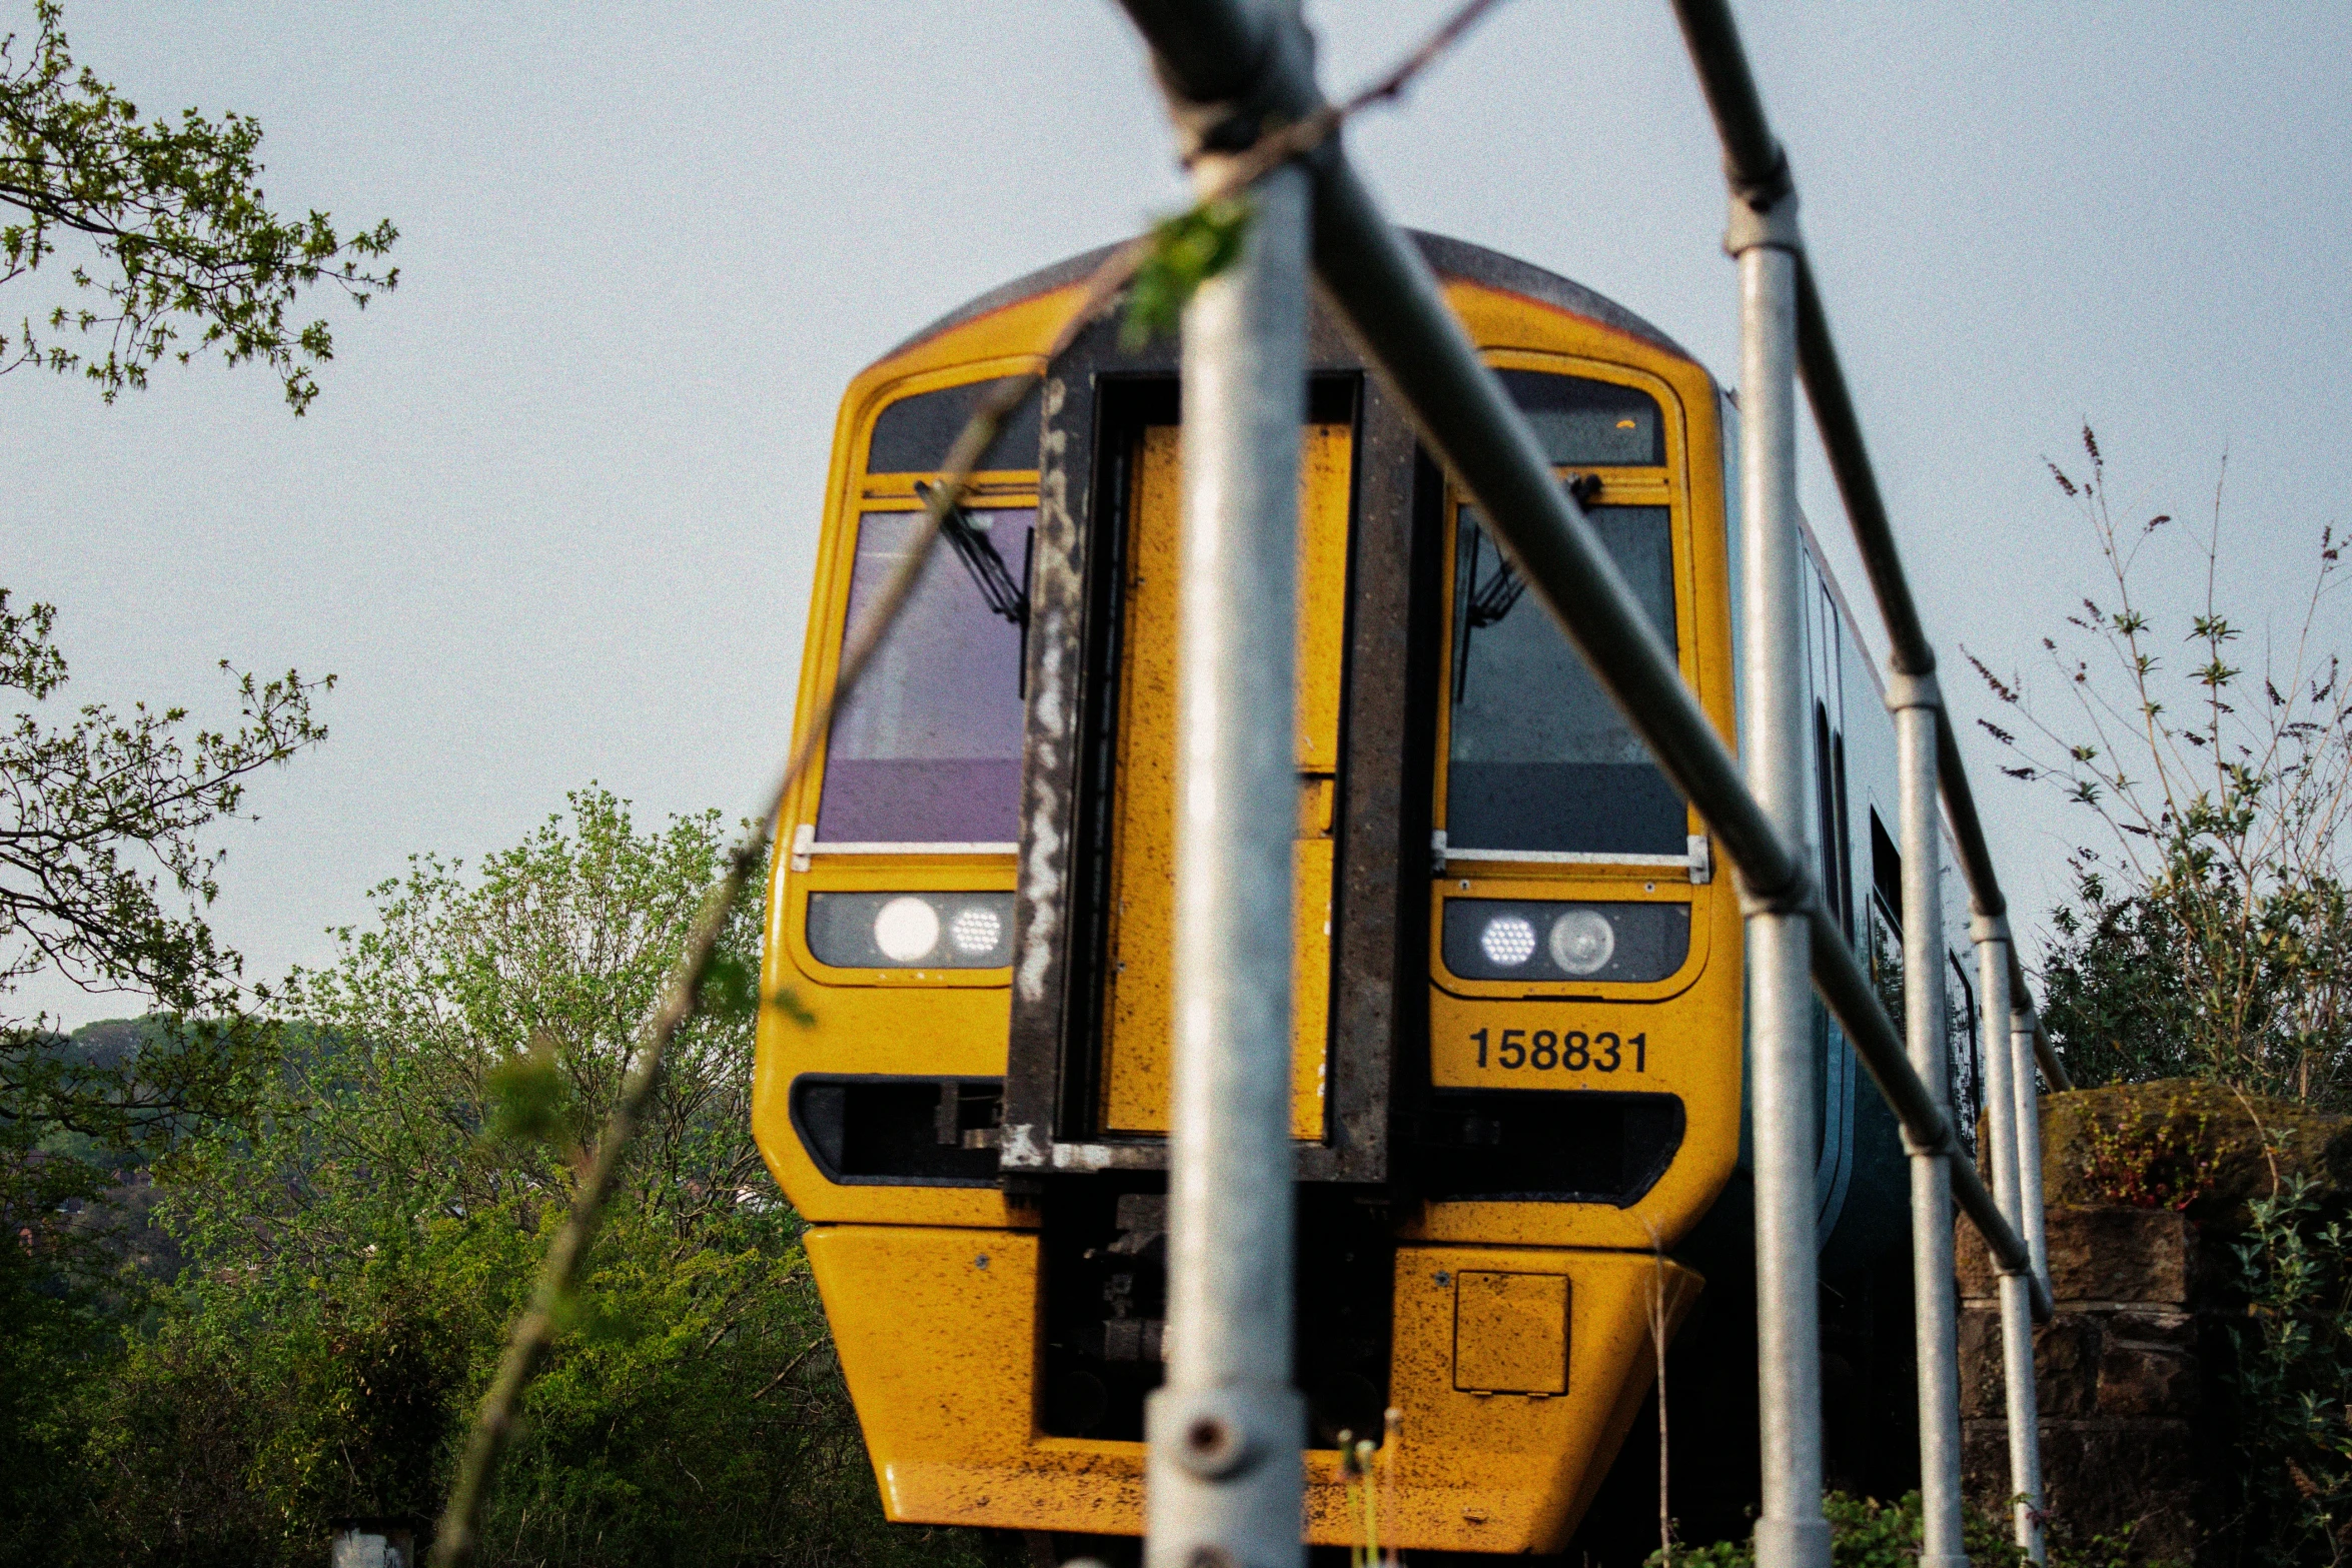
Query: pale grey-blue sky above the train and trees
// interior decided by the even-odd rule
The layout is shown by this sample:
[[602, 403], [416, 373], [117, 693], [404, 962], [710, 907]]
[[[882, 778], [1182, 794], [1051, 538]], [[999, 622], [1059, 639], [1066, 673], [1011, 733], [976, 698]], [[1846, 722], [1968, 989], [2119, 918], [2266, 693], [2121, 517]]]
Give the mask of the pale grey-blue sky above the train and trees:
[[[1312, 5], [1327, 85], [1449, 7]], [[2291, 618], [2352, 480], [2352, 9], [1738, 14], [1947, 663], [1959, 639], [2027, 663], [2098, 585], [2042, 468], [2084, 416], [2143, 512], [2201, 515], [2227, 449], [2225, 585]], [[256, 978], [325, 959], [412, 851], [510, 844], [590, 778], [644, 818], [750, 809], [847, 378], [1178, 200], [1105, 0], [66, 21], [143, 110], [259, 115], [275, 205], [402, 228], [402, 287], [336, 313], [308, 418], [214, 364], [113, 409], [0, 381], [0, 583], [59, 607], [73, 701], [219, 717], [223, 656], [343, 677], [334, 738], [228, 835], [212, 917]], [[1731, 376], [1717, 153], [1665, 5], [1512, 0], [1350, 146], [1397, 221], [1566, 273]], [[2183, 592], [2192, 567], [2164, 562]], [[2011, 896], [2039, 912], [2079, 827], [1987, 750]]]

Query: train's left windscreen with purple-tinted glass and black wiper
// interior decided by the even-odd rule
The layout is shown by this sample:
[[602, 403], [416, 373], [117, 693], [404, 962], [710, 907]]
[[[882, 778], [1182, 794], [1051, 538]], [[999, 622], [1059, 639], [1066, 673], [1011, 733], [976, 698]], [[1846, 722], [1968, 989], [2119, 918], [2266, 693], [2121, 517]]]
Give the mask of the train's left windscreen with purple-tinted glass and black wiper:
[[[1030, 508], [960, 512], [849, 705], [833, 719], [818, 844], [1014, 844], [1021, 837], [1021, 583]], [[856, 625], [906, 557], [920, 512], [858, 517]], [[995, 569], [983, 569], [995, 562]]]

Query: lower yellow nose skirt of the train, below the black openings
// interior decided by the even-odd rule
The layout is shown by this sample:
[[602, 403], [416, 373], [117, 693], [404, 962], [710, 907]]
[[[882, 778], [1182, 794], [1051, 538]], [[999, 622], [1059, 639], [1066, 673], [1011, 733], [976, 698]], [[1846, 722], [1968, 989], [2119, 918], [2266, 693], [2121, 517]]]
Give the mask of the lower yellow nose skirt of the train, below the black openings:
[[[1033, 1232], [835, 1225], [809, 1260], [891, 1519], [1089, 1535], [1143, 1528], [1143, 1443], [1040, 1434]], [[1402, 1246], [1381, 1544], [1566, 1542], [1700, 1279], [1644, 1253]], [[1338, 1450], [1308, 1450], [1305, 1540], [1362, 1542]]]

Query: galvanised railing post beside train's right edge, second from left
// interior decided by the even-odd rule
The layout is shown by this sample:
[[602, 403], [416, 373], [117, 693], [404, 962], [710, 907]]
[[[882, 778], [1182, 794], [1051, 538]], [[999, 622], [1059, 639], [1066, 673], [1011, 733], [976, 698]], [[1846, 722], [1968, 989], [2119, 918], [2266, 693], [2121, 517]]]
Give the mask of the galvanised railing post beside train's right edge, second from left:
[[[1740, 263], [1740, 529], [1748, 595], [1748, 785], [1804, 856], [1804, 623], [1797, 548], [1795, 202], [1731, 207]], [[1743, 889], [1745, 891], [1745, 889]], [[1748, 898], [1748, 1051], [1755, 1126], [1757, 1385], [1764, 1514], [1757, 1568], [1828, 1568], [1820, 1516], [1820, 1295], [1813, 1128], [1811, 926]]]

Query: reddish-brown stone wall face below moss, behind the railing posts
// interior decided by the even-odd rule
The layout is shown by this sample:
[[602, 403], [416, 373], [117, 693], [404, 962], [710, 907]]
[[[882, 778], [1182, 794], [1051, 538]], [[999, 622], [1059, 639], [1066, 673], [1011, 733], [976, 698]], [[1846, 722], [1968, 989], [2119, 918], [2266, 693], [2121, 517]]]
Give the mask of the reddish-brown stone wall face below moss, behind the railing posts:
[[[2051, 1295], [2034, 1328], [2046, 1507], [2077, 1540], [2136, 1526], [2143, 1559], [2194, 1563], [2211, 1528], [2194, 1314], [2197, 1227], [2169, 1208], [2049, 1211]], [[1959, 1406], [1969, 1497], [2006, 1514], [1999, 1274], [1959, 1225]]]

